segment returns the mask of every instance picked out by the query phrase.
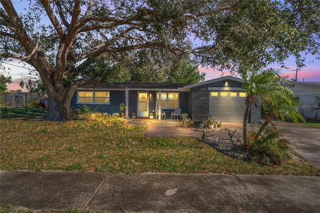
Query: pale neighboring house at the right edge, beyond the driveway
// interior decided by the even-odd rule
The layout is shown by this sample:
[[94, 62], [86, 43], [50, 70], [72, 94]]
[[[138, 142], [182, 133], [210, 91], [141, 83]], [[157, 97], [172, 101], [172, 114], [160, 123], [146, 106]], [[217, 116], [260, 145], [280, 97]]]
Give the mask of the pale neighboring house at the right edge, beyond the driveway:
[[284, 84], [299, 98], [299, 112], [307, 120], [320, 121], [320, 82], [295, 82]]

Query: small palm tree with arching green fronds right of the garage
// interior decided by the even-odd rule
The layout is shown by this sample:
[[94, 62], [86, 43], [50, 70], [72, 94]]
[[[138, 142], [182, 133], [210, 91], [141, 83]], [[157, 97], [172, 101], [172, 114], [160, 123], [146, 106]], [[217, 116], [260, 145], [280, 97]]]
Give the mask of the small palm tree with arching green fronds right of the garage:
[[281, 120], [291, 118], [291, 121], [297, 122], [303, 117], [297, 111], [298, 103], [294, 93], [287, 87], [281, 85], [283, 78], [274, 69], [266, 69], [262, 71], [253, 71], [248, 80], [245, 75], [242, 88], [247, 96], [245, 98], [246, 109], [243, 119], [243, 140], [246, 142], [247, 123], [251, 106], [257, 107], [260, 101], [263, 109], [266, 109], [266, 121], [260, 127], [258, 133], [269, 124], [273, 118]]

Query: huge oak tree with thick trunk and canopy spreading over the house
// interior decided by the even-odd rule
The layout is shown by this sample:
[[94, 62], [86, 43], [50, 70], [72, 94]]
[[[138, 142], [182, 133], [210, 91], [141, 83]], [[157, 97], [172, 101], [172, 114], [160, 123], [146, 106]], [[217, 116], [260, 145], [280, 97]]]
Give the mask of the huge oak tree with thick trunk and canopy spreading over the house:
[[1, 60], [17, 58], [39, 72], [50, 120], [75, 117], [70, 98], [101, 80], [81, 75], [101, 54], [121, 61], [130, 51], [166, 48], [246, 72], [290, 54], [302, 65], [300, 52], [319, 48], [318, 0], [34, 0], [25, 13], [0, 1]]

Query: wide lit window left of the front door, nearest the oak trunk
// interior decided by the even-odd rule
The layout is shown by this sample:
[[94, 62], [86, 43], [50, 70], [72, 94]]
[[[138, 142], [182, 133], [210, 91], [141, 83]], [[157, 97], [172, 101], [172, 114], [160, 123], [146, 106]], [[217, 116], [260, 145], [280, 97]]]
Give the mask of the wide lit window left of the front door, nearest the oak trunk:
[[78, 91], [78, 103], [110, 103], [109, 91]]

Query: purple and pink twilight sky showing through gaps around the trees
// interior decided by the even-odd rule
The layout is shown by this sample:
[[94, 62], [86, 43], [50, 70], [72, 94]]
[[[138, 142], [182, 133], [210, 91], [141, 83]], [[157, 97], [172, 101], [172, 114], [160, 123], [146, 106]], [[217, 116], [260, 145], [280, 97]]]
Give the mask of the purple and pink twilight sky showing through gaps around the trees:
[[[13, 0], [13, 6], [19, 10], [23, 7], [27, 7], [25, 3], [28, 3], [26, 0]], [[310, 62], [311, 61], [311, 62]], [[10, 75], [12, 77], [12, 83], [7, 84], [8, 90], [21, 89], [18, 86], [18, 82], [23, 74], [28, 72], [28, 68], [32, 68], [29, 65], [23, 65], [18, 63], [18, 60], [8, 61], [3, 66], [10, 68], [10, 70], [0, 68], [0, 74]], [[296, 74], [296, 65], [293, 57], [289, 57], [284, 61], [284, 65], [288, 67], [287, 69], [281, 68], [278, 64], [270, 64], [266, 68], [275, 68], [278, 69], [280, 75], [288, 76], [287, 79], [294, 79]], [[301, 68], [297, 72], [297, 81], [317, 81], [320, 82], [320, 60], [316, 59], [314, 55], [306, 55], [305, 67]], [[201, 67], [199, 66], [200, 72], [205, 72], [205, 80], [214, 79], [221, 76], [221, 72], [213, 70], [211, 67]], [[230, 75], [230, 72], [224, 72], [223, 76]], [[239, 75], [237, 77], [240, 77]]]

